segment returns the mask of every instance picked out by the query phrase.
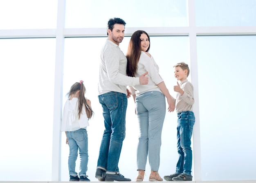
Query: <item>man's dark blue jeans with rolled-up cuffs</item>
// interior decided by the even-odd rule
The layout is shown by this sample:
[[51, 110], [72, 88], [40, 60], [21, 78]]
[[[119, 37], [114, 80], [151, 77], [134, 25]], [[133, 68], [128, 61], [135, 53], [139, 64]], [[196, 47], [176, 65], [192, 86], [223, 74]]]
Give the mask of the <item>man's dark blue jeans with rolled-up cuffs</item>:
[[97, 168], [108, 174], [119, 173], [118, 162], [125, 138], [127, 96], [119, 92], [99, 95], [105, 130], [101, 140]]

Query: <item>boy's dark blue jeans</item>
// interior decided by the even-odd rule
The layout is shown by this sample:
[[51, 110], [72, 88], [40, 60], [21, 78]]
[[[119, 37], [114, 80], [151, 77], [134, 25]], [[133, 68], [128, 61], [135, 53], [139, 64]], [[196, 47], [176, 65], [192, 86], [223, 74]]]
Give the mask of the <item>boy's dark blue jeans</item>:
[[191, 111], [177, 113], [178, 127], [177, 127], [177, 150], [179, 160], [176, 166], [176, 173], [191, 175], [192, 168], [192, 150], [191, 150], [191, 136], [193, 126], [195, 124], [195, 116]]

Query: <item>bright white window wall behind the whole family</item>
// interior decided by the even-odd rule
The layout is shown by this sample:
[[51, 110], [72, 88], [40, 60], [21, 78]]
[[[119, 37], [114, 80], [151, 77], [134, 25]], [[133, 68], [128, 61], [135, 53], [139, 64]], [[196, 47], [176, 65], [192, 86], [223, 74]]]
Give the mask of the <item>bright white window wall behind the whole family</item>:
[[[61, 111], [62, 104], [56, 103], [56, 98], [61, 97], [63, 103], [70, 86], [81, 79], [85, 81], [86, 97], [92, 100], [95, 112], [88, 127], [88, 176], [96, 181], [94, 175], [104, 129], [97, 99], [98, 62], [106, 40], [99, 36], [106, 36], [106, 24], [112, 17], [127, 22], [126, 36], [130, 36], [132, 30], [148, 31], [150, 53], [173, 96], [176, 81], [172, 66], [180, 61], [191, 64], [189, 79], [198, 96], [195, 132], [200, 133], [200, 138], [195, 138], [193, 143], [201, 147], [194, 151], [201, 161], [200, 166], [193, 167], [193, 172], [201, 172], [194, 179], [256, 180], [254, 0], [189, 0], [190, 6], [191, 2], [195, 5], [189, 8], [186, 0], [157, 3], [154, 0], [110, 0], [109, 3], [66, 0], [65, 18], [61, 13], [57, 17], [58, 4], [62, 2], [0, 0], [0, 181], [56, 181], [56, 177], [60, 181], [69, 180], [64, 133], [57, 143], [61, 145], [60, 169], [56, 171], [52, 163], [58, 157], [58, 135], [54, 132], [58, 131], [56, 123], [61, 120], [54, 105], [60, 106]], [[188, 12], [193, 8], [194, 15]], [[56, 30], [62, 30], [57, 24], [63, 20], [64, 27], [68, 28], [65, 31], [74, 37], [81, 36], [81, 31], [84, 35], [83, 38], [65, 38], [63, 47], [59, 47], [60, 38], [54, 35]], [[214, 27], [201, 29], [203, 26]], [[195, 32], [212, 36], [197, 36], [193, 40]], [[99, 36], [86, 36], [92, 34]], [[245, 35], [216, 36], [239, 34]], [[125, 37], [120, 44], [124, 53], [129, 39]], [[62, 71], [58, 60], [62, 53], [63, 75], [56, 72]], [[58, 84], [61, 88], [56, 88]], [[56, 96], [54, 91], [58, 90], [62, 91], [62, 96]], [[128, 101], [126, 139], [119, 168], [121, 174], [133, 180], [138, 128], [134, 104], [132, 99]], [[54, 116], [58, 116], [58, 121], [54, 121]], [[176, 162], [176, 116], [166, 113], [159, 174], [163, 177], [173, 173]], [[150, 174], [148, 166], [146, 174], [145, 180]]]

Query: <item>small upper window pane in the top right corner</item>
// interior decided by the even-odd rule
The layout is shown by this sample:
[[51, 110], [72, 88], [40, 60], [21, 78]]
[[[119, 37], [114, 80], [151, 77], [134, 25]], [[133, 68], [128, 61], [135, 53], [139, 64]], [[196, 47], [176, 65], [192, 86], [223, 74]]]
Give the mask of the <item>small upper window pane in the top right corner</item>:
[[254, 0], [195, 0], [197, 26], [256, 26]]

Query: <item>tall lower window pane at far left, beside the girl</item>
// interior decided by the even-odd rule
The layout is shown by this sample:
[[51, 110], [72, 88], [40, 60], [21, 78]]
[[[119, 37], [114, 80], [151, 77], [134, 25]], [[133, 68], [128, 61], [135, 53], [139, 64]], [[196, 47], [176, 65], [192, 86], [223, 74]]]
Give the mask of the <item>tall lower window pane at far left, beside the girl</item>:
[[0, 50], [0, 181], [49, 181], [55, 39], [0, 39]]

